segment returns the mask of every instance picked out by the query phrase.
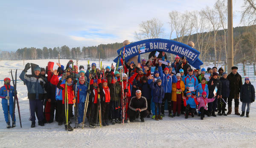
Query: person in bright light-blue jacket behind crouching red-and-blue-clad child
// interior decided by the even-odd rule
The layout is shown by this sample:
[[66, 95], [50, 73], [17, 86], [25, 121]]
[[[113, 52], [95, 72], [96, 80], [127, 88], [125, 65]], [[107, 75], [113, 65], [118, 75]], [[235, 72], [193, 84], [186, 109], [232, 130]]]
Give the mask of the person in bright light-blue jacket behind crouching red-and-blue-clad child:
[[194, 86], [194, 91], [192, 91], [191, 93], [192, 93], [192, 95], [195, 95], [195, 91], [197, 90], [197, 88], [198, 88], [198, 79], [197, 79], [197, 77], [195, 77], [194, 75], [193, 75], [193, 69], [192, 68], [190, 68], [189, 70], [188, 70], [188, 75], [184, 78], [184, 84], [185, 84], [185, 92], [186, 91], [189, 91], [189, 85], [192, 85], [192, 86]]

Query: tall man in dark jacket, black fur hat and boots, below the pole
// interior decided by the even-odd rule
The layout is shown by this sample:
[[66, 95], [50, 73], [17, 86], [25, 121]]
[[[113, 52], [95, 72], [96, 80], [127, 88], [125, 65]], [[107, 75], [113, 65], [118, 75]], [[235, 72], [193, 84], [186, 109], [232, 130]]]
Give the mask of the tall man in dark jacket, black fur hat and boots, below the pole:
[[239, 93], [242, 86], [242, 77], [237, 72], [238, 67], [233, 66], [232, 72], [227, 76], [227, 79], [230, 81], [230, 96], [227, 99], [228, 112], [227, 114], [231, 114], [232, 112], [232, 100], [235, 100], [235, 114], [240, 115], [239, 109]]

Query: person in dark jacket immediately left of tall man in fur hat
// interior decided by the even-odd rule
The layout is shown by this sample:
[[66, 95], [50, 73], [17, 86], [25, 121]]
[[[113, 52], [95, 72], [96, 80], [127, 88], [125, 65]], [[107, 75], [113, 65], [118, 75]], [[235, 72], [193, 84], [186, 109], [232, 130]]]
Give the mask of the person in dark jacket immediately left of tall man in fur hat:
[[227, 114], [225, 113], [225, 108], [226, 108], [227, 98], [229, 97], [229, 94], [230, 94], [230, 82], [227, 79], [226, 72], [222, 74], [222, 77], [220, 78], [220, 80], [221, 80], [221, 96], [222, 97], [221, 97], [220, 104], [218, 104], [219, 106], [218, 115], [227, 116]]

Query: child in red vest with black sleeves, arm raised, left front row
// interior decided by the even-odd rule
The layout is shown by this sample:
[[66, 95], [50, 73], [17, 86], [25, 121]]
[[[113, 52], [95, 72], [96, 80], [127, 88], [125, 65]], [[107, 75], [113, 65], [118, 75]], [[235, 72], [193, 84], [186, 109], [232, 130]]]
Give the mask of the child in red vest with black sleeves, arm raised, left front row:
[[[68, 75], [66, 82], [67, 82], [67, 90], [66, 90], [66, 84], [61, 84], [62, 81], [66, 79], [66, 74], [62, 74], [61, 80], [59, 80], [57, 87], [62, 90], [62, 104], [65, 103], [66, 97], [68, 101], [68, 117], [66, 119], [66, 108], [65, 105], [62, 105], [62, 118], [64, 119], [65, 129], [68, 131], [73, 131], [73, 128], [70, 126], [70, 117], [72, 114], [73, 109], [73, 99], [74, 99], [74, 91], [73, 91], [73, 83], [72, 83], [72, 76]], [[65, 95], [65, 92], [67, 91], [67, 96]], [[68, 123], [66, 123], [68, 121]]]

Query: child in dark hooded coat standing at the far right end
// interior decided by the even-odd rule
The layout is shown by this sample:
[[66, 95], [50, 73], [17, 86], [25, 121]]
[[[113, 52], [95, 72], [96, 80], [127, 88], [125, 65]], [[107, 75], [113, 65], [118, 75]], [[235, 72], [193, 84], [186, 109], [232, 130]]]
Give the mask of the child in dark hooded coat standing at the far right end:
[[253, 85], [251, 85], [250, 79], [248, 77], [245, 78], [245, 83], [244, 85], [242, 85], [242, 88], [240, 91], [240, 101], [243, 102], [241, 117], [244, 116], [246, 105], [247, 105], [246, 117], [249, 117], [250, 104], [255, 101], [255, 89]]

